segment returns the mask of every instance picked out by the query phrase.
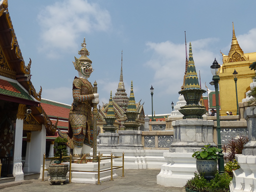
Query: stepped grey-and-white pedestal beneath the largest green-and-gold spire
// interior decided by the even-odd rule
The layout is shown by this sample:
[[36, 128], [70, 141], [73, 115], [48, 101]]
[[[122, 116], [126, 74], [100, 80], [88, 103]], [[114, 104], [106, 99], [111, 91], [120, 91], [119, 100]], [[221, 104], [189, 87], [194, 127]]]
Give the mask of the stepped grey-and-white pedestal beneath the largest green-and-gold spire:
[[169, 152], [163, 153], [166, 163], [157, 175], [157, 184], [182, 187], [196, 171], [194, 151], [203, 145], [213, 146], [213, 121], [202, 119], [181, 119], [172, 121], [173, 142]]

